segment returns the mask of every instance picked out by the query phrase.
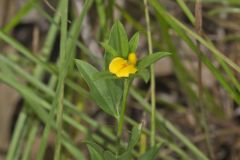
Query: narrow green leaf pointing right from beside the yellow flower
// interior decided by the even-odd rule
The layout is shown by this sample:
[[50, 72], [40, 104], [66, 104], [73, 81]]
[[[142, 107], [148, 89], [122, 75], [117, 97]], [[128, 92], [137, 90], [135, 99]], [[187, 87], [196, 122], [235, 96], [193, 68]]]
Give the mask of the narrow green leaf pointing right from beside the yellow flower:
[[137, 68], [139, 70], [147, 68], [151, 64], [158, 61], [159, 59], [161, 59], [165, 56], [168, 56], [168, 55], [171, 55], [171, 53], [169, 53], [169, 52], [156, 52], [156, 53], [150, 54], [148, 56], [145, 56], [143, 59], [139, 60], [139, 62], [137, 64]]

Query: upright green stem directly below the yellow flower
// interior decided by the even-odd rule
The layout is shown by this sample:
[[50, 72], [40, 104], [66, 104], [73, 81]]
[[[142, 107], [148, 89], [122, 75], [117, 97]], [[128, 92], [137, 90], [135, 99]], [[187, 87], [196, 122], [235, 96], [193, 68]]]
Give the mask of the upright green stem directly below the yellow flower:
[[119, 151], [119, 148], [120, 148], [120, 140], [121, 140], [122, 132], [123, 132], [124, 117], [125, 117], [125, 112], [126, 112], [126, 107], [127, 107], [127, 96], [128, 96], [128, 91], [129, 91], [130, 84], [131, 84], [130, 79], [125, 79], [124, 80], [122, 106], [121, 106], [121, 110], [120, 110], [120, 112], [121, 112], [120, 117], [118, 119], [118, 129], [117, 129], [118, 151]]

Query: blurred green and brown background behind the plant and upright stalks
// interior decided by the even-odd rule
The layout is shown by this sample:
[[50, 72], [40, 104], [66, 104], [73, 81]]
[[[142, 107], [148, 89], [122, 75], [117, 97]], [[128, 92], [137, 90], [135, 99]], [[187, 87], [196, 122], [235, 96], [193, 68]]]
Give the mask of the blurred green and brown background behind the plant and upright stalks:
[[[201, 35], [195, 30], [195, 3], [149, 0], [153, 50], [173, 53], [155, 65], [156, 140], [162, 143], [158, 159], [238, 160], [240, 2], [203, 0]], [[56, 124], [49, 120], [49, 111], [60, 63], [61, 6], [62, 0], [0, 1], [0, 159], [53, 157]], [[100, 42], [108, 38], [115, 20], [121, 20], [129, 36], [140, 33], [138, 57], [148, 53], [142, 1], [70, 0], [65, 7], [72, 40], [67, 54], [73, 53], [74, 58], [100, 70], [104, 53]], [[86, 139], [115, 151], [114, 120], [91, 100], [74, 62], [69, 68], [64, 90], [64, 158], [88, 159], [82, 143]], [[136, 79], [130, 94], [124, 137], [128, 139], [132, 125], [144, 121], [133, 153], [139, 155], [149, 143], [149, 83]], [[52, 128], [48, 134], [44, 134], [46, 126]]]

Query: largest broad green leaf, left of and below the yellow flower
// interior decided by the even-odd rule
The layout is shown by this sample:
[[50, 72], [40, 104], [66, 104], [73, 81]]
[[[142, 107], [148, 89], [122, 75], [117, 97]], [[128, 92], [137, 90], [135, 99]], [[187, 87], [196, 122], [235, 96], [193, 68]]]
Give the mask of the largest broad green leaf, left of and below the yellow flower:
[[76, 65], [82, 78], [90, 88], [90, 95], [97, 105], [106, 113], [117, 117], [117, 107], [122, 96], [122, 86], [118, 81], [97, 80], [94, 76], [99, 73], [96, 68], [82, 60], [76, 60]]

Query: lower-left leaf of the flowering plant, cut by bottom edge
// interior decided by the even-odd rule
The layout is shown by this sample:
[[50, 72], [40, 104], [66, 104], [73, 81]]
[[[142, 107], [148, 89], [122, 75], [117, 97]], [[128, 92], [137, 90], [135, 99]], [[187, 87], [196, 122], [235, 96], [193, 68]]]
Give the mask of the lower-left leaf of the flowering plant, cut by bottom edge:
[[91, 160], [104, 160], [103, 152], [104, 150], [96, 143], [87, 141], [88, 151], [91, 157]]

